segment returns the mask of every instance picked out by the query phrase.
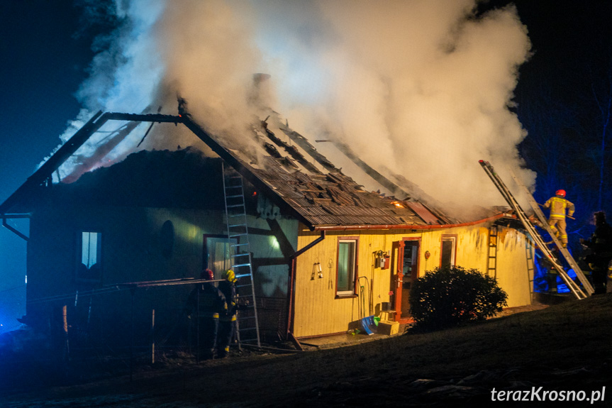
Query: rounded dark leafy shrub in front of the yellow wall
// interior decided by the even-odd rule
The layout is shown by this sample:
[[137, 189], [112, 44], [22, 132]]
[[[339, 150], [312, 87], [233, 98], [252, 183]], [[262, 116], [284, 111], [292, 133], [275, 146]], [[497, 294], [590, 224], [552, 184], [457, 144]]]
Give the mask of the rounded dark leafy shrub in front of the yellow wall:
[[445, 266], [413, 282], [410, 312], [418, 326], [440, 329], [495, 316], [508, 305], [507, 298], [494, 277], [477, 269]]

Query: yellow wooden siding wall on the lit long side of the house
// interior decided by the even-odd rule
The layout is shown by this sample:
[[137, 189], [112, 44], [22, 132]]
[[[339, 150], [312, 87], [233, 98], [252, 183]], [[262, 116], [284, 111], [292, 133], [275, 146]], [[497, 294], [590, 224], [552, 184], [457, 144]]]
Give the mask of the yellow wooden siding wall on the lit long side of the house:
[[[381, 302], [389, 302], [393, 279], [393, 265], [382, 270], [374, 268], [378, 250], [391, 251], [392, 243], [403, 238], [420, 239], [418, 275], [440, 265], [440, 244], [443, 235], [457, 236], [455, 264], [463, 268], [477, 268], [486, 273], [489, 256], [489, 225], [462, 226], [412, 232], [394, 231], [330, 231], [326, 238], [297, 258], [295, 286], [294, 335], [296, 337], [339, 333], [349, 328], [349, 323], [362, 316], [378, 314]], [[302, 230], [298, 248], [318, 238], [318, 232]], [[360, 297], [335, 299], [336, 257], [338, 238], [357, 237], [358, 277], [365, 285], [365, 311], [360, 315], [363, 299]], [[530, 277], [525, 255], [525, 236], [510, 228], [501, 228], [497, 248], [496, 277], [503, 290], [508, 292], [508, 306], [530, 303]], [[425, 259], [425, 251], [430, 258]], [[318, 277], [316, 264], [321, 264], [323, 278]], [[360, 286], [358, 285], [358, 286]], [[370, 291], [372, 294], [370, 295]], [[358, 289], [357, 292], [360, 292]], [[370, 304], [370, 299], [372, 303]]]

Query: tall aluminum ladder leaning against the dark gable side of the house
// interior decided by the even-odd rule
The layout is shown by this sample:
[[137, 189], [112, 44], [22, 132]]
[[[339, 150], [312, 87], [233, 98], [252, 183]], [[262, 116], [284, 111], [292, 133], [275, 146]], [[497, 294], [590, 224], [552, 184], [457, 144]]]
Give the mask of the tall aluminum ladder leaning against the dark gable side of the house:
[[[236, 314], [238, 348], [241, 348], [243, 343], [255, 343], [257, 347], [261, 347], [243, 177], [232, 168], [226, 169], [223, 164], [221, 169], [226, 204], [230, 269], [234, 271], [238, 280], [236, 285], [240, 305]], [[234, 239], [236, 241], [232, 243]]]

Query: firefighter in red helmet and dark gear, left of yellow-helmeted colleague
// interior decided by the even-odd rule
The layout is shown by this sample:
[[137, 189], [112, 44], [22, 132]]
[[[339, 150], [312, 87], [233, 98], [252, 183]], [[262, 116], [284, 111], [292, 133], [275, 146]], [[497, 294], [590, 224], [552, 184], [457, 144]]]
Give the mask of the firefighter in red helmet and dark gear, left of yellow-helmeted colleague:
[[[201, 272], [200, 279], [214, 280], [213, 271]], [[226, 297], [213, 282], [202, 282], [189, 294], [187, 316], [196, 314], [196, 344], [198, 352], [204, 358], [214, 358], [217, 347], [219, 316], [225, 315], [228, 309]], [[194, 319], [191, 319], [193, 321]]]

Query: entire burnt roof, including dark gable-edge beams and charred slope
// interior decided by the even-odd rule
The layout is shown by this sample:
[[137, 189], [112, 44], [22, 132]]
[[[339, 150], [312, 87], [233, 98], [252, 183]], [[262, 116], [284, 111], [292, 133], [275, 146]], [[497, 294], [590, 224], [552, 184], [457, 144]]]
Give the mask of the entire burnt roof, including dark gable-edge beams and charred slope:
[[[465, 221], [451, 219], [430, 206], [429, 202], [412, 197], [418, 187], [401, 176], [396, 176], [396, 182], [392, 182], [357, 158], [349, 146], [338, 143], [341, 153], [393, 195], [386, 197], [379, 192], [367, 191], [319, 153], [308, 139], [289, 128], [286, 122], [282, 123], [273, 111], [265, 120], [253, 123], [250, 140], [233, 138], [231, 141], [208, 133], [184, 110], [179, 116], [97, 114], [28, 178], [17, 192], [0, 204], [0, 214], [6, 216], [9, 211], [18, 208], [16, 204], [27, 202], [27, 198], [33, 195], [32, 190], [48, 182], [52, 172], [108, 120], [184, 123], [224, 162], [234, 167], [256, 189], [283, 209], [285, 214], [295, 216], [311, 229], [333, 226], [346, 229], [389, 226], [411, 228]], [[162, 177], [159, 174], [152, 176]], [[401, 187], [396, 183], [401, 183]], [[426, 196], [419, 191], [418, 197]], [[172, 202], [168, 205], [171, 206]]]

